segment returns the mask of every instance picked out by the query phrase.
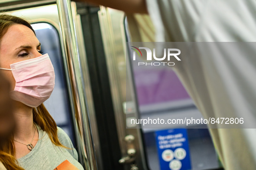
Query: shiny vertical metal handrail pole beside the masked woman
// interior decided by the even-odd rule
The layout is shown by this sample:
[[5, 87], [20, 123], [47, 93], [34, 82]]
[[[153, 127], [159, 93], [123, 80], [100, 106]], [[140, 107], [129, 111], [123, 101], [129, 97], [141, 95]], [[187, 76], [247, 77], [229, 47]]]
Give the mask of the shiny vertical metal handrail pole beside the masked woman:
[[78, 53], [78, 41], [72, 16], [70, 0], [56, 0], [62, 31], [62, 43], [65, 47], [65, 57], [71, 85], [71, 100], [73, 118], [78, 143], [79, 160], [86, 170], [97, 170], [91, 126], [86, 108], [83, 72]]

